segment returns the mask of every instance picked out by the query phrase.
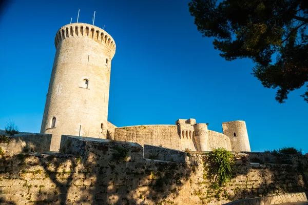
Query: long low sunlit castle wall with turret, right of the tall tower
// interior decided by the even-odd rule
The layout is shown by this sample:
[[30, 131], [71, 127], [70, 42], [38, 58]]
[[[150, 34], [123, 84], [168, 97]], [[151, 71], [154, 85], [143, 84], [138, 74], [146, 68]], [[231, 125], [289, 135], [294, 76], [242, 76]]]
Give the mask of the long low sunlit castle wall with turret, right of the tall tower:
[[[112, 127], [112, 131], [114, 136], [110, 139], [137, 142], [142, 146], [153, 145], [182, 151], [188, 149], [200, 152], [220, 147], [229, 151], [250, 151], [249, 141], [246, 147], [234, 147], [234, 150], [232, 150], [229, 136], [208, 130], [206, 124], [197, 124], [195, 119], [179, 119], [176, 121], [176, 125]], [[234, 135], [234, 132], [232, 135]], [[248, 139], [248, 135], [245, 136]], [[240, 143], [240, 140], [233, 141]], [[237, 150], [237, 148], [243, 148], [243, 150]]]

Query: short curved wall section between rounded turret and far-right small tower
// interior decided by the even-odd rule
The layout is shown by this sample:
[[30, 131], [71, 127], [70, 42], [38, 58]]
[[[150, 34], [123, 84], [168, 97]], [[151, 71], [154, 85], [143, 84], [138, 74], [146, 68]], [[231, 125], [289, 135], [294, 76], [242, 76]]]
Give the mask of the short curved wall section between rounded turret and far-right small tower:
[[207, 150], [220, 147], [232, 151], [230, 138], [220, 132], [208, 130]]

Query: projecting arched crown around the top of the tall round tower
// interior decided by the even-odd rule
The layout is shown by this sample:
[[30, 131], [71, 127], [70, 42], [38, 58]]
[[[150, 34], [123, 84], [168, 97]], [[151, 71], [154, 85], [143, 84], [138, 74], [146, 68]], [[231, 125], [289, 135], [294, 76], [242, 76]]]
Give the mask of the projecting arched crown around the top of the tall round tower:
[[59, 45], [62, 40], [71, 37], [86, 37], [93, 39], [95, 42], [98, 42], [109, 49], [111, 58], [115, 54], [115, 43], [113, 38], [99, 27], [85, 23], [67, 24], [56, 32], [54, 38], [55, 48], [57, 48], [57, 45]]

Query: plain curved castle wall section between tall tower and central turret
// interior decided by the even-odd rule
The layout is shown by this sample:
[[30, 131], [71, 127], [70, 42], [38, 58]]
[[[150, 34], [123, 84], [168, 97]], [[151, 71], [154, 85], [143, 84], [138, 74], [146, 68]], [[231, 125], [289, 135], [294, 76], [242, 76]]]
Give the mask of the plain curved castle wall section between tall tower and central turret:
[[136, 142], [142, 146], [146, 144], [182, 150], [176, 125], [142, 125], [115, 128], [114, 140]]

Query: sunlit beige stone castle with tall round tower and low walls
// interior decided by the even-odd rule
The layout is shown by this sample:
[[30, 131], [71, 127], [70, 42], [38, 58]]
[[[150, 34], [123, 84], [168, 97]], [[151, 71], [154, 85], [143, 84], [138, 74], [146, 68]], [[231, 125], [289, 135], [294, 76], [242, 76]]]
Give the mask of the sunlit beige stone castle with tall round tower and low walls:
[[222, 123], [223, 133], [207, 129], [195, 119], [176, 125], [118, 128], [107, 120], [113, 38], [84, 23], [68, 24], [56, 32], [56, 53], [50, 77], [41, 133], [52, 134], [50, 151], [59, 151], [61, 136], [112, 139], [176, 150], [209, 151], [223, 147], [248, 151], [244, 121]]

